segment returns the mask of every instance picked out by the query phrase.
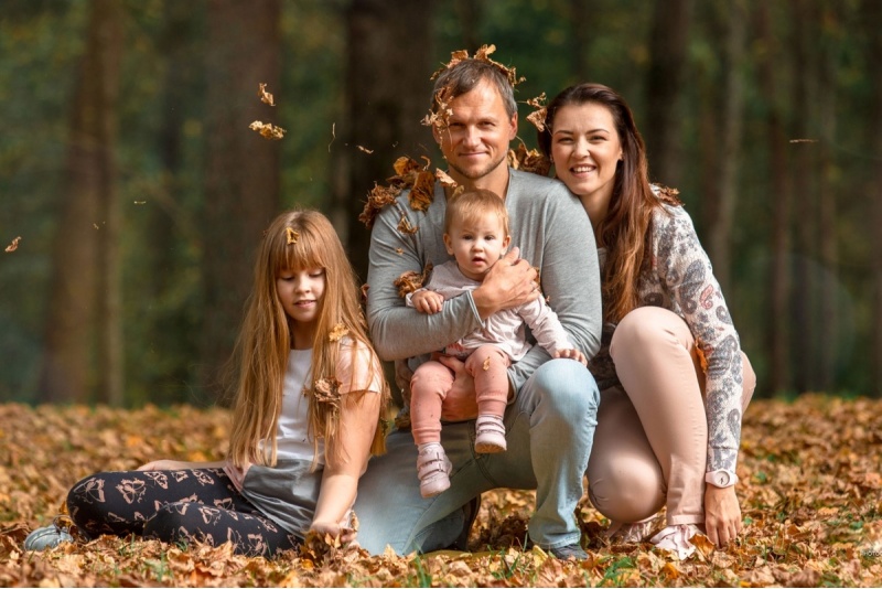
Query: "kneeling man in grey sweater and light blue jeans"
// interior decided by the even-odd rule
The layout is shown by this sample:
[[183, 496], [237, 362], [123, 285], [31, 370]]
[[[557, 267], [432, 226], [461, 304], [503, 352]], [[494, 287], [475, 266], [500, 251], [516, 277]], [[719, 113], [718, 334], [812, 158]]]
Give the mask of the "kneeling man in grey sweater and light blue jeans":
[[[598, 351], [600, 271], [588, 215], [561, 183], [509, 169], [506, 154], [517, 133], [517, 105], [503, 69], [488, 60], [466, 58], [443, 71], [433, 94], [433, 135], [458, 184], [490, 190], [505, 200], [516, 247], [480, 288], [445, 301], [441, 312], [406, 308], [395, 280], [451, 259], [442, 240], [451, 189], [435, 182], [434, 200], [424, 213], [409, 206], [406, 193], [399, 195], [376, 217], [370, 240], [367, 319], [384, 360], [429, 354], [480, 328], [490, 314], [534, 300], [540, 293], [533, 267], [540, 269], [544, 294], [573, 346], [587, 357]], [[402, 217], [416, 233], [399, 231]], [[411, 361], [411, 370], [419, 360]], [[449, 546], [467, 534], [475, 497], [505, 486], [537, 490], [529, 522], [533, 543], [558, 558], [585, 558], [574, 510], [583, 492], [600, 398], [589, 371], [572, 360], [550, 360], [534, 346], [509, 368], [508, 450], [476, 454], [471, 377], [461, 362], [444, 362], [456, 384], [448, 395], [453, 407], [442, 417], [460, 421], [442, 429], [452, 462], [451, 486], [422, 499], [410, 431], [391, 432], [388, 452], [370, 462], [359, 482], [355, 513], [361, 545], [375, 554], [387, 545], [398, 554]]]

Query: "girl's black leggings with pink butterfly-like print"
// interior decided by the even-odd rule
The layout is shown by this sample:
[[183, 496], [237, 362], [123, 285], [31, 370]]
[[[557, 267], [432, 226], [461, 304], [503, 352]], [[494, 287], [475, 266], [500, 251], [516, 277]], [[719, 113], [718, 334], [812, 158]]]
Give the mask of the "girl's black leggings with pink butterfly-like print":
[[267, 557], [301, 543], [236, 491], [222, 469], [99, 472], [74, 485], [67, 511], [93, 538], [229, 540], [238, 554]]

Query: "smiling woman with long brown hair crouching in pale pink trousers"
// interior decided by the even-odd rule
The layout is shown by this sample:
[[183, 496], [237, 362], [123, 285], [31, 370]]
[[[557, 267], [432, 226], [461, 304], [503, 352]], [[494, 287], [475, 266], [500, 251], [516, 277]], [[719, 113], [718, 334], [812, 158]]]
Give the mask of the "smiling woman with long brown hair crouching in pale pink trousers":
[[539, 147], [582, 201], [602, 267], [590, 499], [613, 537], [644, 540], [666, 505], [654, 544], [686, 558], [703, 525], [725, 546], [742, 527], [735, 463], [755, 376], [692, 222], [676, 191], [649, 184], [631, 109], [606, 86], [555, 97]]

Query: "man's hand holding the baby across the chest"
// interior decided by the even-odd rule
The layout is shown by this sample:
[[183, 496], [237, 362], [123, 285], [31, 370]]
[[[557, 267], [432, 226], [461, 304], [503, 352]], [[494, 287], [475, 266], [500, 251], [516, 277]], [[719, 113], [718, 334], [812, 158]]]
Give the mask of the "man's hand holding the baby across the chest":
[[519, 259], [520, 249], [512, 250], [491, 267], [484, 281], [472, 291], [472, 300], [481, 319], [503, 309], [514, 309], [540, 296], [536, 282], [536, 268], [525, 259]]

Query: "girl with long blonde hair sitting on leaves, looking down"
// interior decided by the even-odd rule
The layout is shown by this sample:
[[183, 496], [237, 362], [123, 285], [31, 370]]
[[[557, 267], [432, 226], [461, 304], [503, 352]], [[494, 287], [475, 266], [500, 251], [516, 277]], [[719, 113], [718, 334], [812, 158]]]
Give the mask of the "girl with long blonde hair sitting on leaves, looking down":
[[384, 451], [388, 386], [331, 223], [291, 211], [267, 229], [237, 343], [226, 460], [159, 460], [87, 476], [67, 495], [87, 536], [190, 538], [270, 556], [306, 533], [355, 538], [351, 507]]

